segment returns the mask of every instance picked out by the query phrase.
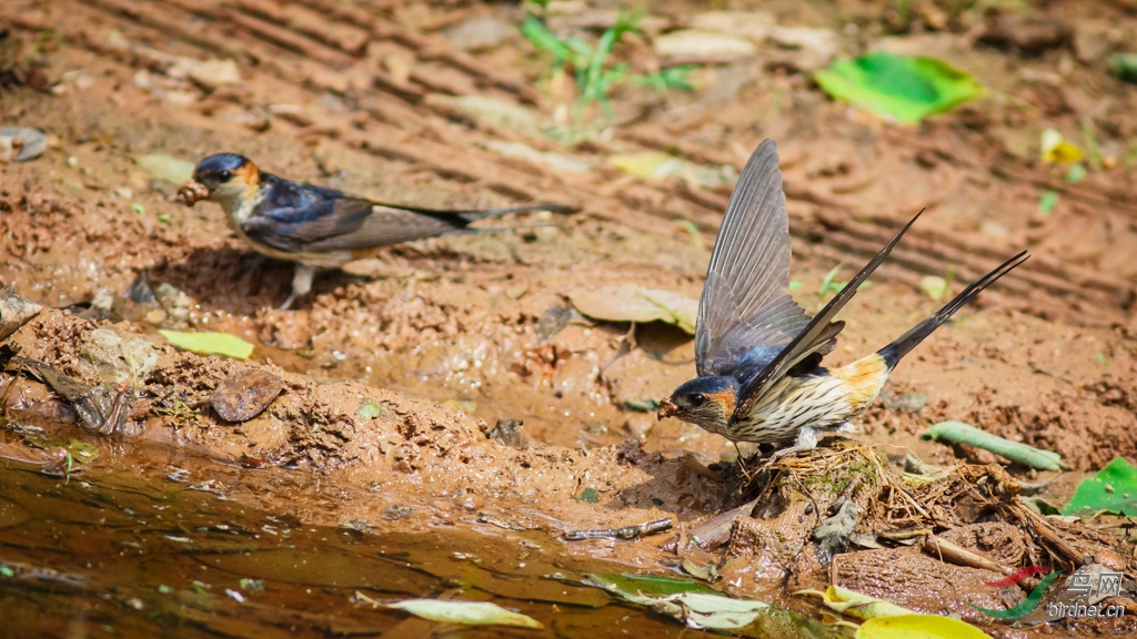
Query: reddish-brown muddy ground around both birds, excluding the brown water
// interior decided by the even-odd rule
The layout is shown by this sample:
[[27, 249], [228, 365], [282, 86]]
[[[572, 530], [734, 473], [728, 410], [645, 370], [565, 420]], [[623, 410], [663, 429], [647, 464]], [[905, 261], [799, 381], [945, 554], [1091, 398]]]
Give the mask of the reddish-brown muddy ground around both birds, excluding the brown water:
[[[588, 32], [611, 20], [614, 5], [579, 5], [550, 24]], [[887, 397], [860, 420], [856, 439], [883, 456], [912, 453], [945, 467], [996, 462], [919, 439], [932, 423], [965, 421], [1060, 453], [1072, 471], [1044, 493], [1055, 504], [1114, 456], [1137, 460], [1137, 86], [1110, 76], [1105, 63], [1137, 41], [1134, 7], [996, 3], [986, 15], [970, 3], [943, 3], [963, 7], [958, 13], [939, 2], [722, 5], [714, 8], [832, 30], [848, 53], [882, 47], [935, 55], [989, 91], [921, 125], [882, 124], [816, 89], [808, 76], [820, 66], [814, 52], [758, 39], [754, 55], [697, 60], [694, 92], [617, 91], [615, 124], [570, 148], [455, 99], [481, 96], [536, 121], [554, 117], [547, 59], [515, 30], [473, 44], [458, 30], [471, 20], [515, 24], [521, 10], [513, 5], [5, 2], [0, 26], [11, 30], [22, 45], [16, 58], [34, 73], [0, 89], [0, 122], [49, 134], [42, 157], [0, 173], [0, 282], [47, 307], [11, 341], [20, 355], [84, 382], [141, 391], [127, 432], [110, 438], [61, 424], [70, 416], [66, 403], [27, 376], [0, 376], [5, 387], [11, 382], [8, 408], [52, 437], [98, 447], [100, 459], [84, 470], [91, 475], [144, 479], [179, 467], [189, 484], [272, 516], [376, 539], [449, 539], [454, 529], [516, 537], [484, 523], [489, 514], [539, 531], [540, 551], [567, 566], [604, 559], [614, 570], [673, 571], [679, 561], [666, 542], [674, 533], [634, 542], [559, 536], [664, 517], [694, 529], [725, 498], [705, 467], [733, 459], [735, 449], [697, 426], [628, 408], [694, 374], [686, 333], [591, 322], [572, 312], [567, 296], [634, 283], [697, 298], [733, 185], [721, 168], [728, 177], [717, 185], [631, 176], [611, 166], [611, 156], [665, 151], [737, 172], [770, 136], [786, 176], [792, 277], [802, 284], [795, 293], [807, 309], [821, 306], [822, 280], [835, 265], [847, 265], [849, 276], [928, 207], [847, 307], [833, 363], [879, 348], [935, 310], [938, 302], [916, 285], [922, 276], [952, 269], [958, 291], [1015, 251], [1032, 254], [905, 359]], [[898, 14], [901, 5], [914, 13]], [[645, 35], [617, 55], [653, 56], [653, 38], [705, 10], [683, 1], [652, 7]], [[1038, 50], [985, 43], [986, 20], [999, 13], [1072, 31]], [[233, 60], [239, 80], [179, 72], [177, 60], [213, 58]], [[1096, 146], [1084, 181], [1070, 184], [1039, 160], [1045, 127]], [[279, 312], [291, 267], [242, 246], [217, 207], [176, 202], [176, 186], [134, 160], [168, 153], [192, 161], [222, 150], [385, 201], [557, 201], [582, 211], [514, 216], [505, 223], [523, 229], [389, 248], [348, 273], [319, 275], [312, 296]], [[1047, 190], [1061, 194], [1043, 215]], [[179, 302], [184, 316], [123, 299], [143, 272], [188, 296]], [[158, 327], [231, 332], [256, 352], [240, 363], [176, 351]], [[134, 343], [153, 359], [109, 379], [123, 362], [108, 364], [92, 346], [103, 339]], [[249, 366], [280, 375], [284, 390], [260, 416], [224, 422], [209, 398]], [[375, 414], [360, 414], [372, 404]], [[525, 442], [488, 440], [500, 420], [522, 420]], [[0, 437], [9, 457], [42, 456], [11, 429]], [[1024, 482], [1054, 475], [1010, 472]], [[589, 488], [596, 503], [580, 499]], [[1131, 572], [1128, 554], [1118, 562]], [[966, 582], [963, 569], [941, 565], [944, 582]], [[777, 562], [733, 566], [717, 587], [816, 616], [787, 594]], [[904, 598], [844, 570], [833, 572], [844, 584]], [[794, 579], [811, 571], [794, 571]], [[982, 581], [972, 576], [970, 583]], [[993, 597], [981, 587], [962, 591]], [[962, 597], [932, 586], [921, 592], [901, 603], [976, 619]], [[42, 617], [24, 623], [48, 628]], [[309, 630], [334, 631], [321, 628]], [[995, 628], [1007, 637], [1045, 632]]]

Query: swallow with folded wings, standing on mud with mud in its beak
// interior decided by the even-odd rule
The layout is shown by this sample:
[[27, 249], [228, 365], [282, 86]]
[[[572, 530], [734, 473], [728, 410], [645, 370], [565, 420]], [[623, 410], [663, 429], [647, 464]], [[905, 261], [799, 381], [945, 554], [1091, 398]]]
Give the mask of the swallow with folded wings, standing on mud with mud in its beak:
[[217, 153], [199, 161], [193, 177], [177, 194], [189, 206], [199, 200], [219, 204], [230, 226], [254, 250], [296, 263], [292, 292], [281, 305], [282, 310], [312, 290], [317, 268], [339, 268], [399, 242], [474, 232], [467, 229], [470, 223], [487, 217], [530, 210], [576, 210], [550, 204], [483, 210], [432, 210], [382, 204], [263, 173], [248, 158], [235, 153]]

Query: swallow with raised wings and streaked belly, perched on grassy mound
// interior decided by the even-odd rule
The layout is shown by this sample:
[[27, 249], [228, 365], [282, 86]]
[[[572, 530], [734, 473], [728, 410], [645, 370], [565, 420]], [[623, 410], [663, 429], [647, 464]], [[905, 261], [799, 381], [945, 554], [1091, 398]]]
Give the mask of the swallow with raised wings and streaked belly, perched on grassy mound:
[[848, 421], [869, 408], [901, 358], [1029, 257], [1022, 251], [1003, 263], [877, 352], [822, 367], [845, 326], [833, 317], [919, 217], [811, 320], [789, 296], [786, 194], [774, 143], [762, 142], [742, 169], [711, 255], [696, 321], [699, 376], [661, 401], [658, 417], [697, 424], [736, 447], [773, 445], [771, 460], [813, 448], [822, 433], [853, 430]]

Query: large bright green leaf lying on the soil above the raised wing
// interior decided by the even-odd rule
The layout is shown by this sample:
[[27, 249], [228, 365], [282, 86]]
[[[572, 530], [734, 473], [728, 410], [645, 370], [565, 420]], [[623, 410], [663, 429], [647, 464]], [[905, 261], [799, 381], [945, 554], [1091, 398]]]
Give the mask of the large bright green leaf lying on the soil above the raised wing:
[[916, 123], [984, 92], [974, 77], [943, 60], [877, 51], [838, 60], [813, 75], [825, 93], [902, 123]]

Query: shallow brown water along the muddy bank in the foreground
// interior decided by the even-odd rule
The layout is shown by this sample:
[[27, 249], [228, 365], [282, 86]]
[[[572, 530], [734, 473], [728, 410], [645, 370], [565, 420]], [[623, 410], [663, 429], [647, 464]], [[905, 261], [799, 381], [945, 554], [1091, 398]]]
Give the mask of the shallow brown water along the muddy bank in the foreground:
[[[173, 467], [163, 474], [98, 465], [66, 478], [6, 459], [0, 636], [704, 634], [574, 584], [587, 572], [626, 566], [548, 553], [524, 532], [360, 528], [301, 525], [226, 497], [224, 484], [191, 484]], [[441, 624], [375, 607], [357, 592], [387, 603], [491, 600], [546, 628]], [[747, 634], [799, 636], [785, 614], [761, 628]]]

